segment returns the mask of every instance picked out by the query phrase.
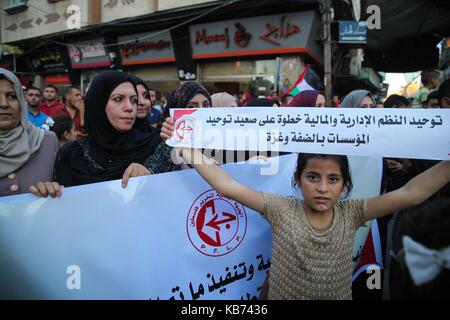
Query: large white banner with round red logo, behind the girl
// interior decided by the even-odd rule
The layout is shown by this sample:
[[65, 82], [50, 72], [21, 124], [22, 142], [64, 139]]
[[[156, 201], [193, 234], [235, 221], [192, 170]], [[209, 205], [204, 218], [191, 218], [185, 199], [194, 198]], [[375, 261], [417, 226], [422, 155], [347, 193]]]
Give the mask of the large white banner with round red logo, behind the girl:
[[[250, 187], [299, 196], [297, 156], [223, 168]], [[354, 198], [379, 191], [378, 160], [350, 157]], [[267, 166], [274, 175], [261, 175]], [[194, 170], [0, 198], [0, 298], [254, 299], [271, 259], [260, 214]], [[359, 245], [356, 245], [357, 247]]]

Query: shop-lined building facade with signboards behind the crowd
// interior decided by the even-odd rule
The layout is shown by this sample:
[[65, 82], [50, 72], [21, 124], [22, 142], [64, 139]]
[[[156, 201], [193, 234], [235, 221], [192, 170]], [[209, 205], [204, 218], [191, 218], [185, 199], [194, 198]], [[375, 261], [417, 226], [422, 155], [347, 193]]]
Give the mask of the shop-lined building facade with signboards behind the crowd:
[[[197, 80], [212, 93], [266, 96], [285, 79], [293, 85], [306, 64], [323, 75], [318, 1], [0, 0], [0, 6], [1, 40], [22, 50], [7, 58], [25, 85], [86, 90], [99, 72], [120, 69], [166, 93]], [[344, 69], [336, 77], [343, 75], [343, 85], [337, 83], [343, 93], [354, 73], [351, 64]], [[358, 84], [377, 90], [369, 81]]]

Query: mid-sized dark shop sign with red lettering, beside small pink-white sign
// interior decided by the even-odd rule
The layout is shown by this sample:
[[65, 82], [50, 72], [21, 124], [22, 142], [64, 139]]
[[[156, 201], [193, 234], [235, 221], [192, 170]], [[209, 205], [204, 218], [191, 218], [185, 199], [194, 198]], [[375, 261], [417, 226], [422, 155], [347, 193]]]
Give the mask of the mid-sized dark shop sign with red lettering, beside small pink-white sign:
[[170, 32], [152, 31], [118, 37], [123, 65], [173, 62]]

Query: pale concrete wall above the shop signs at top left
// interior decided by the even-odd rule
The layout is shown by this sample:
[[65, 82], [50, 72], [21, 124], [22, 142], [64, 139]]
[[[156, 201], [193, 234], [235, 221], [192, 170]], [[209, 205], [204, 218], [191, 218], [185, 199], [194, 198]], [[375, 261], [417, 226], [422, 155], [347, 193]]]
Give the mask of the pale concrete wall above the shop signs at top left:
[[[50, 3], [46, 0], [28, 0], [23, 12], [7, 14], [0, 10], [2, 43], [35, 38], [69, 30], [79, 16], [79, 27], [118, 19], [171, 10], [211, 0], [64, 0]], [[0, 8], [11, 5], [11, 0], [0, 0]], [[75, 5], [75, 11], [70, 6]], [[69, 8], [69, 10], [68, 10]]]

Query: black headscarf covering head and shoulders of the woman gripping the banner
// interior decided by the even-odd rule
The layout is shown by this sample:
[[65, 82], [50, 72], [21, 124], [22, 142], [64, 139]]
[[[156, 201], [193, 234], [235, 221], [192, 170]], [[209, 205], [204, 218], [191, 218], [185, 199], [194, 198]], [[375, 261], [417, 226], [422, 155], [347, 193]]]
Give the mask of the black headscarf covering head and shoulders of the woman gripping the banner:
[[55, 165], [58, 182], [80, 185], [120, 179], [131, 163], [144, 164], [159, 144], [157, 134], [136, 127], [119, 132], [109, 122], [106, 104], [112, 91], [124, 82], [133, 84], [130, 76], [120, 71], [103, 72], [92, 81], [85, 99], [88, 136], [61, 149]]

